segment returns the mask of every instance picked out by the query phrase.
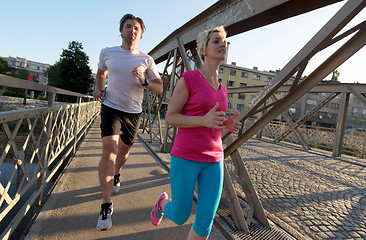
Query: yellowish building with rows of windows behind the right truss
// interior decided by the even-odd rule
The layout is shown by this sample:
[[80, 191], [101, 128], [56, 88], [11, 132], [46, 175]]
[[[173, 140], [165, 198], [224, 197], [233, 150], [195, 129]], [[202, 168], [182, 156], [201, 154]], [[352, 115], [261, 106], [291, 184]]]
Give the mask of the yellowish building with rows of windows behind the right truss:
[[[219, 68], [219, 79], [227, 88], [263, 86], [267, 85], [277, 73], [278, 71], [259, 71], [256, 67], [253, 69], [239, 67], [236, 63], [222, 63]], [[291, 84], [292, 81], [293, 79], [290, 79], [287, 84]], [[283, 97], [283, 94], [285, 93], [277, 93], [276, 96], [279, 99]], [[244, 106], [249, 106], [250, 101], [256, 95], [257, 93], [229, 94], [227, 114], [240, 112]], [[307, 93], [288, 109], [288, 113], [293, 121], [297, 121], [328, 96], [329, 93]], [[341, 97], [339, 95], [316, 112], [305, 124], [336, 128], [340, 106]], [[284, 121], [282, 116], [278, 116], [276, 120]], [[366, 106], [353, 95], [350, 97], [347, 112], [347, 128], [366, 131]]]

